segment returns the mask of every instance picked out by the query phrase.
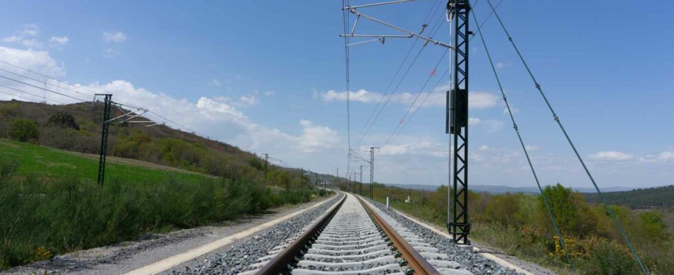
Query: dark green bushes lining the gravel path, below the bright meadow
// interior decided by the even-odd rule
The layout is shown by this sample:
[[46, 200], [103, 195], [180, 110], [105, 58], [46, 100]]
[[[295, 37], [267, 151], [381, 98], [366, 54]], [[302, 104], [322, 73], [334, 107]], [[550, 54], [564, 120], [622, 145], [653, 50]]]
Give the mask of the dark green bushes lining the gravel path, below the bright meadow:
[[[0, 157], [0, 171], [16, 165]], [[6, 169], [6, 167], [9, 167]], [[309, 201], [312, 190], [272, 195], [261, 184], [209, 179], [161, 184], [0, 177], [0, 270], [79, 249], [133, 240], [150, 232], [192, 228]]]

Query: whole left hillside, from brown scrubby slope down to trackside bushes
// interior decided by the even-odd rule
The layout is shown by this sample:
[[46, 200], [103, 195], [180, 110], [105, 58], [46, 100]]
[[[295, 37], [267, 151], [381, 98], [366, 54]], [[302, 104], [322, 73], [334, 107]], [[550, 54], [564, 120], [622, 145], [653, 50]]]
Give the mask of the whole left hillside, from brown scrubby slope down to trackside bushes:
[[98, 186], [100, 107], [0, 102], [0, 270], [326, 195], [274, 166], [268, 188], [255, 155], [166, 126], [111, 126]]

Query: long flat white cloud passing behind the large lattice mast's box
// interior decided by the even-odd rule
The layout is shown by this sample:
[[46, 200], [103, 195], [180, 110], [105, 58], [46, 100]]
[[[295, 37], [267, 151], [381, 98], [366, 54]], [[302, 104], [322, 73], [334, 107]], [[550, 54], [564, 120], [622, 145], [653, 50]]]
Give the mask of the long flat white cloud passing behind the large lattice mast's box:
[[[425, 106], [433, 107], [444, 107], [446, 104], [446, 90], [449, 89], [448, 85], [443, 87], [438, 87], [435, 91], [431, 92], [430, 95], [424, 93], [420, 98], [425, 98], [428, 95], [428, 99], [424, 103]], [[411, 104], [416, 98], [416, 94], [411, 93], [396, 93], [396, 94], [387, 94], [383, 95], [377, 92], [367, 91], [365, 89], [360, 89], [358, 91], [335, 91], [329, 90], [318, 93], [314, 91], [314, 98], [320, 98], [324, 102], [331, 101], [346, 101], [347, 94], [349, 95], [349, 100], [352, 102], [363, 102], [363, 103], [373, 103], [380, 102], [380, 100], [389, 100], [390, 102], [395, 102], [398, 104]], [[471, 109], [486, 109], [496, 106], [499, 101], [499, 97], [496, 94], [485, 91], [471, 91], [468, 97], [468, 107]], [[414, 107], [418, 107], [423, 100], [417, 100]]]

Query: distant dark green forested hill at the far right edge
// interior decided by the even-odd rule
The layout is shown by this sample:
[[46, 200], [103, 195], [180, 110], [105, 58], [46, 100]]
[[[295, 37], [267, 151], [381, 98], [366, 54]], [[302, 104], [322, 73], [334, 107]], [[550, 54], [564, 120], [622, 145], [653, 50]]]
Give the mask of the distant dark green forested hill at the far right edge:
[[[589, 202], [601, 202], [597, 193], [585, 193], [584, 195], [585, 199]], [[674, 207], [674, 185], [621, 192], [605, 192], [604, 197], [609, 203], [629, 206], [632, 209]]]

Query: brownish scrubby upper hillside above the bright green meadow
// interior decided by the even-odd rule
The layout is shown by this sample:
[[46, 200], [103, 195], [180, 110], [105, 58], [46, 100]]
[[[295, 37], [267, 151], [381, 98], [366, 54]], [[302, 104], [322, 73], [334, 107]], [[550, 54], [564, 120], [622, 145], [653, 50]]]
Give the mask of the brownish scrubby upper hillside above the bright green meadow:
[[[98, 154], [102, 108], [100, 102], [50, 105], [17, 100], [0, 101], [0, 137], [78, 153]], [[120, 109], [113, 108], [111, 115], [116, 117], [121, 113]], [[163, 125], [111, 125], [108, 155], [237, 181], [264, 180], [263, 164], [256, 155], [230, 144]], [[106, 177], [114, 173], [111, 169]], [[270, 165], [268, 184], [283, 188], [306, 184], [307, 179], [298, 175], [294, 170]], [[96, 179], [95, 173], [89, 176]]]

